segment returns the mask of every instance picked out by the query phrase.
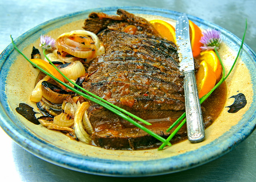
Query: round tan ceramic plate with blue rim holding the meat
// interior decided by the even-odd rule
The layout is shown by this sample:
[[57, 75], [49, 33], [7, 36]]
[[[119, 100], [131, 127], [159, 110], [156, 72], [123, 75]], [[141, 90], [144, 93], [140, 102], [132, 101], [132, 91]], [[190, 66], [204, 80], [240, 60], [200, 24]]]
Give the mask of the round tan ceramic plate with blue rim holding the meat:
[[[83, 20], [93, 11], [115, 15], [117, 9], [117, 7], [91, 9], [61, 16], [38, 25], [18, 37], [15, 42], [23, 53], [30, 56], [32, 46], [39, 47], [40, 35], [46, 34], [57, 38], [61, 33], [82, 29]], [[148, 20], [162, 19], [172, 25], [175, 25], [176, 18], [181, 15], [175, 11], [154, 8], [122, 7], [122, 9]], [[228, 72], [236, 58], [241, 40], [215, 24], [194, 16], [188, 18], [202, 29], [215, 28], [221, 31], [223, 42], [219, 53]], [[37, 157], [76, 171], [123, 177], [174, 173], [221, 157], [245, 140], [256, 126], [254, 94], [256, 58], [255, 53], [247, 45], [244, 45], [234, 71], [226, 80], [225, 107], [215, 122], [206, 129], [206, 140], [197, 144], [185, 140], [163, 151], [102, 149], [70, 140], [62, 133], [29, 122], [15, 109], [20, 103], [26, 103], [38, 112], [35, 104], [30, 102], [30, 93], [38, 70], [22, 58], [12, 45], [3, 51], [0, 58], [0, 125], [4, 131], [17, 144]], [[231, 97], [238, 94], [245, 96], [247, 104], [236, 113], [228, 113], [227, 106], [234, 103], [234, 98]]]

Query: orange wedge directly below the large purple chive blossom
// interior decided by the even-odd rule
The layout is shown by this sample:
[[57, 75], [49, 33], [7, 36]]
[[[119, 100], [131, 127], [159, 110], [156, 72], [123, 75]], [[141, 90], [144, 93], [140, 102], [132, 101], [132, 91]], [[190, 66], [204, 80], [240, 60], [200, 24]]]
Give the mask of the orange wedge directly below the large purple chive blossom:
[[215, 75], [216, 80], [219, 80], [221, 77], [222, 66], [219, 58], [217, 57], [216, 53], [213, 50], [209, 51], [202, 51], [200, 53], [200, 57], [198, 58], [199, 61], [206, 61], [212, 67]]

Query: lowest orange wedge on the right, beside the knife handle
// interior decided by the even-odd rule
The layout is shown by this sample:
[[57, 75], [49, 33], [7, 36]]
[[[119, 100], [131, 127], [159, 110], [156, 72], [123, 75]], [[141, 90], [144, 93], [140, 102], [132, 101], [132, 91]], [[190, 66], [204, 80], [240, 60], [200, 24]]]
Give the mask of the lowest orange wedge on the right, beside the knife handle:
[[206, 61], [200, 63], [200, 67], [195, 74], [199, 98], [206, 95], [215, 86], [216, 76], [210, 64]]

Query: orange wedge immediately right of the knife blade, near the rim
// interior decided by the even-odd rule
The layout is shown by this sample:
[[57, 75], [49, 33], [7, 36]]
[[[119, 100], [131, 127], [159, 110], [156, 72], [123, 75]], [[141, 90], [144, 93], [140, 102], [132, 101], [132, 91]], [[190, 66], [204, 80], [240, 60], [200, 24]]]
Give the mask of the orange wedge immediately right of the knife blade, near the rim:
[[190, 42], [191, 42], [191, 49], [193, 53], [193, 57], [197, 57], [200, 55], [201, 46], [203, 44], [200, 42], [202, 37], [202, 31], [200, 28], [189, 20], [189, 35], [190, 35]]

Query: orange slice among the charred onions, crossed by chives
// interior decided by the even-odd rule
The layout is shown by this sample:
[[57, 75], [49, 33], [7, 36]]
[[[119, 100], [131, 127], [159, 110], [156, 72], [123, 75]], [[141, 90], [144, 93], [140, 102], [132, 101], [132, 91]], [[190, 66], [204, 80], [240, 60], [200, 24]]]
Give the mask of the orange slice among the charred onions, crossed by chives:
[[[41, 67], [43, 70], [47, 71], [48, 73], [50, 73], [51, 75], [55, 76], [56, 78], [58, 78], [59, 80], [61, 80], [62, 82], [64, 82], [63, 77], [61, 76], [61, 74], [57, 71], [57, 69], [55, 69], [50, 63], [46, 62], [45, 60], [42, 59], [30, 59], [34, 64], [36, 64], [37, 66]], [[59, 84], [63, 89], [66, 89], [65, 86]]]

